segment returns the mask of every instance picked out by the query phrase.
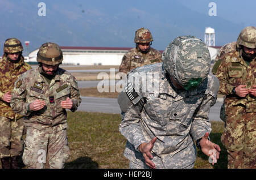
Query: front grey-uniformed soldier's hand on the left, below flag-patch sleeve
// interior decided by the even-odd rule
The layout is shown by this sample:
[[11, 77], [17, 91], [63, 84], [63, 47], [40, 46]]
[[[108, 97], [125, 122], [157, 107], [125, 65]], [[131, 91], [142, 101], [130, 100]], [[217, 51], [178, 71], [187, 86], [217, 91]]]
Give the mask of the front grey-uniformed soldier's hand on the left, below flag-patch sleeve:
[[150, 168], [155, 168], [154, 162], [151, 161], [151, 159], [153, 158], [153, 155], [151, 154], [150, 151], [154, 147], [154, 143], [156, 139], [157, 138], [155, 137], [149, 143], [142, 143], [141, 145], [139, 145], [139, 151], [142, 152], [146, 165]]

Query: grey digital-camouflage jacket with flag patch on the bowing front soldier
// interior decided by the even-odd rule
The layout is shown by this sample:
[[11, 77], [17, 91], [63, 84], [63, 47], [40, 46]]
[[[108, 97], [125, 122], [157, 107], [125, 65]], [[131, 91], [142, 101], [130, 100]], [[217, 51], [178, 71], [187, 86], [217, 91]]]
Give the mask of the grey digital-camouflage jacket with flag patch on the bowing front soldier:
[[[152, 149], [156, 168], [186, 168], [196, 160], [193, 140], [211, 131], [208, 114], [216, 102], [218, 79], [209, 74], [199, 88], [177, 90], [168, 81], [162, 64], [132, 70], [123, 90], [126, 93], [118, 97], [119, 101], [120, 98], [131, 101], [119, 125], [119, 131], [127, 139], [124, 155], [143, 166], [144, 158], [138, 147], [156, 137]], [[147, 74], [154, 74], [154, 78], [148, 76], [150, 80], [146, 82], [143, 76]], [[133, 82], [134, 77], [138, 82]], [[152, 82], [159, 88], [144, 91], [142, 87]]]

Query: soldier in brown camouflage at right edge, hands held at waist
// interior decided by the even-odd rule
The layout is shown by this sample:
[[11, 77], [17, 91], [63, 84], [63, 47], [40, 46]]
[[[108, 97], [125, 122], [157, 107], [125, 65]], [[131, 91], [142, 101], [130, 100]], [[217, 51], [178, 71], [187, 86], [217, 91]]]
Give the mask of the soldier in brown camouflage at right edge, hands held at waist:
[[217, 71], [226, 95], [226, 127], [221, 142], [228, 168], [256, 168], [256, 28], [244, 28], [237, 49], [225, 54]]

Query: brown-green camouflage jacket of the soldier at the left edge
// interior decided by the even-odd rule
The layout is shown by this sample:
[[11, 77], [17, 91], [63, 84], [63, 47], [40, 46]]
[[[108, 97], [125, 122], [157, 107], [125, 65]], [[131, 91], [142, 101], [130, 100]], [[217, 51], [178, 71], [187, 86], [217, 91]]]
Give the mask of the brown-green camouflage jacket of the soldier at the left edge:
[[19, 119], [22, 116], [13, 112], [10, 103], [3, 101], [3, 96], [8, 91], [13, 91], [14, 83], [21, 74], [30, 70], [31, 66], [24, 62], [23, 56], [20, 57], [19, 62], [12, 63], [7, 60], [6, 55], [0, 61], [0, 116]]

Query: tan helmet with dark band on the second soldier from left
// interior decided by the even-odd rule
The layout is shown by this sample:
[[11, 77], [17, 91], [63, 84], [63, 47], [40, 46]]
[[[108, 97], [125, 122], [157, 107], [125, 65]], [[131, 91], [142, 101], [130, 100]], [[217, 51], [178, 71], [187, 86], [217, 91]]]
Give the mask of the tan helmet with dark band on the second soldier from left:
[[44, 43], [37, 54], [36, 61], [46, 65], [59, 65], [63, 61], [63, 53], [59, 45], [53, 42]]

